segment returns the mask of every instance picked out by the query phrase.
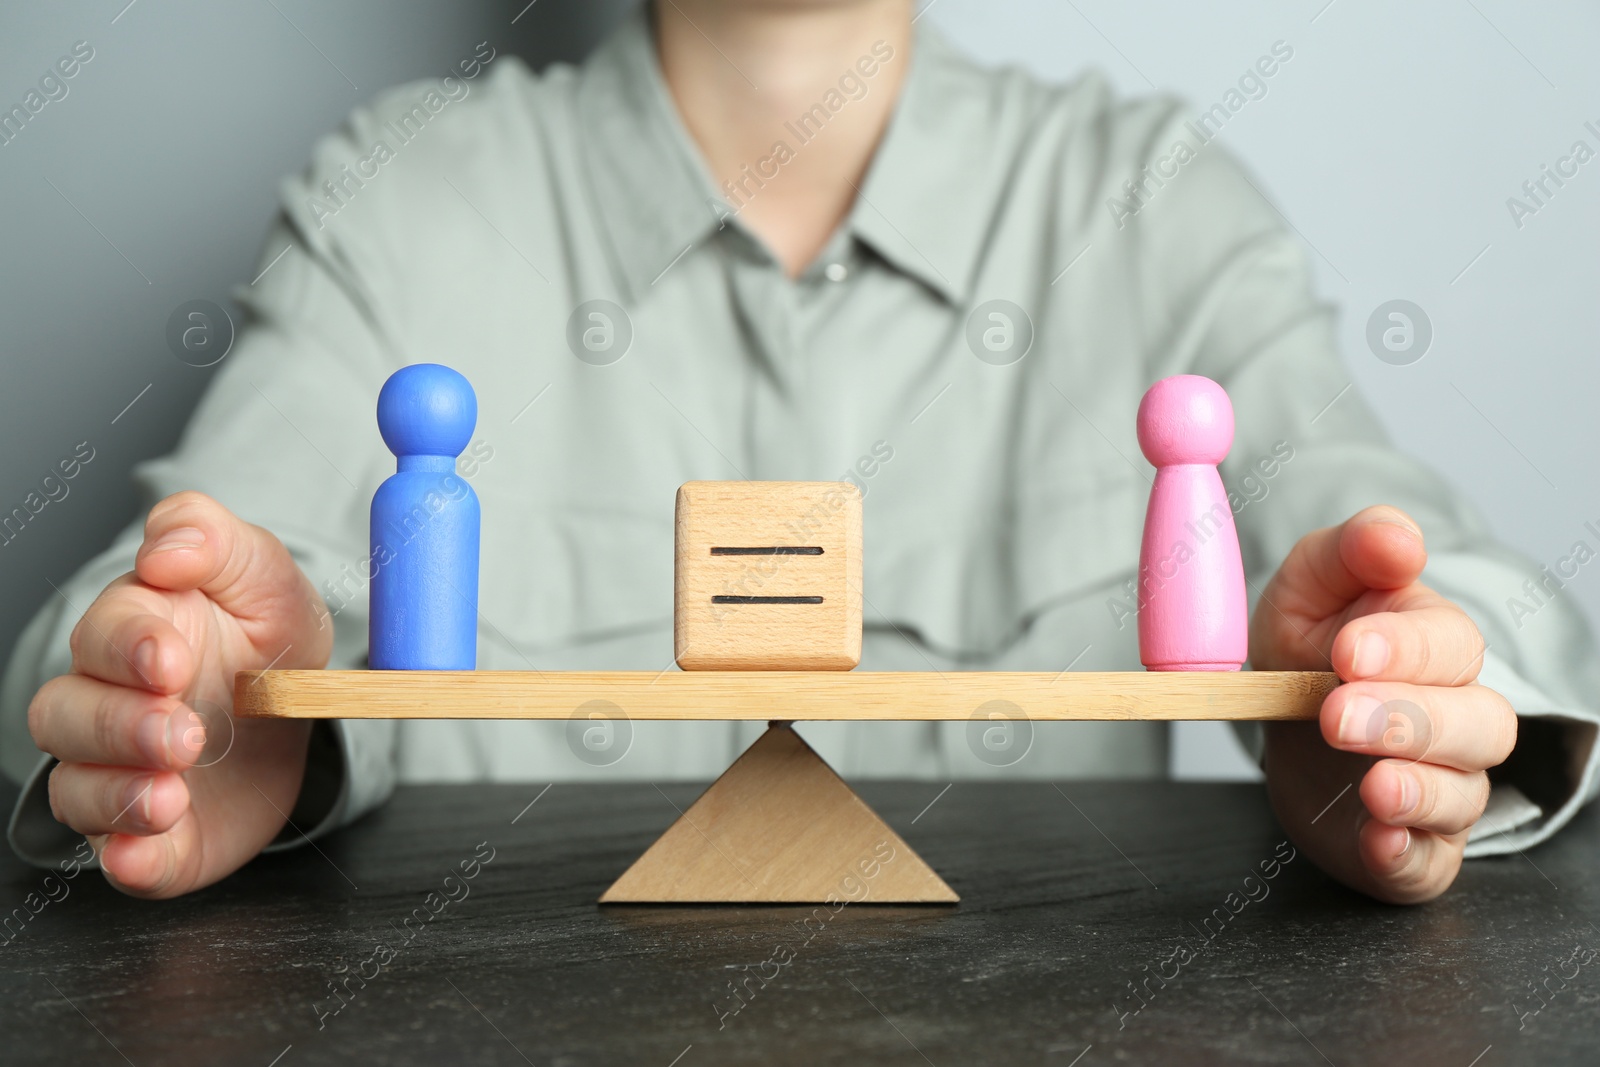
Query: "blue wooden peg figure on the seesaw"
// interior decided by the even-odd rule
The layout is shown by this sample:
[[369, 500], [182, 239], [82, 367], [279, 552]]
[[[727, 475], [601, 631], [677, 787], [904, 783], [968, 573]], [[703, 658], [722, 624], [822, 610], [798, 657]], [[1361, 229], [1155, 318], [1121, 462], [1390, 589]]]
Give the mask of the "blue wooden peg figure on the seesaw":
[[378, 430], [398, 470], [373, 494], [368, 662], [378, 670], [478, 664], [477, 493], [456, 474], [478, 398], [458, 371], [403, 366], [378, 394]]

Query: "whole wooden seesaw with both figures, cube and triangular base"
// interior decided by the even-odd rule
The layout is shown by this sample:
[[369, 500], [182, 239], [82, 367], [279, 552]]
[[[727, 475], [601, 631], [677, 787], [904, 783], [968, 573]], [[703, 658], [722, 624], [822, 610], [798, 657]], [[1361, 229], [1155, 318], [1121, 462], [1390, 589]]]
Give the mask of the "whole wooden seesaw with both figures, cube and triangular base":
[[[1245, 581], [1214, 464], [1234, 437], [1216, 382], [1157, 382], [1139, 445], [1157, 466], [1139, 560], [1149, 673], [854, 672], [861, 493], [834, 482], [678, 490], [674, 654], [682, 672], [472, 670], [478, 502], [454, 475], [477, 400], [438, 365], [378, 400], [398, 472], [373, 499], [370, 662], [261, 670], [234, 712], [275, 718], [768, 720], [600, 897], [605, 904], [954, 904], [957, 894], [790, 728], [794, 720], [1314, 720], [1338, 677], [1240, 672]], [[995, 712], [1000, 704], [1005, 712]], [[1003, 720], [1003, 721], [1002, 721]]]

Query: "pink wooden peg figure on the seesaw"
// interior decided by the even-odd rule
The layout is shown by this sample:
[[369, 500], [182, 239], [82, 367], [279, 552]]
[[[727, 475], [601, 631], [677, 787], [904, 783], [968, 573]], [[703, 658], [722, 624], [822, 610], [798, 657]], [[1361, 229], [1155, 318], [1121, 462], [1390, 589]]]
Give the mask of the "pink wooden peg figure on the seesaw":
[[1248, 656], [1245, 568], [1216, 472], [1232, 445], [1234, 405], [1210, 378], [1163, 378], [1139, 402], [1139, 448], [1155, 464], [1139, 549], [1149, 670], [1238, 670]]

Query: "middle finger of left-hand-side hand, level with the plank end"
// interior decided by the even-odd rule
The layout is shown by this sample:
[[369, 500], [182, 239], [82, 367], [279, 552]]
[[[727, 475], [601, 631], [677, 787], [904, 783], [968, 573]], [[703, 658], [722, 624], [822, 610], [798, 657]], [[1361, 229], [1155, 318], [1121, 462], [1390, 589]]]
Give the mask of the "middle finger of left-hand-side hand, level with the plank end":
[[62, 763], [182, 771], [195, 713], [182, 702], [85, 675], [51, 678], [27, 705], [34, 744]]

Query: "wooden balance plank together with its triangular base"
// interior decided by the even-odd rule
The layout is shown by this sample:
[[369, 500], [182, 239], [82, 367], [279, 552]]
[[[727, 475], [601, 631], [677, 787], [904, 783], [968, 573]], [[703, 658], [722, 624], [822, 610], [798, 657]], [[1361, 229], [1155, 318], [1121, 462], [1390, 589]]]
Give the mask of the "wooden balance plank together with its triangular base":
[[[776, 720], [602, 904], [955, 904], [960, 897], [787, 720], [1314, 720], [1322, 672], [242, 670], [256, 718]], [[1003, 717], [1002, 717], [1003, 718]]]

